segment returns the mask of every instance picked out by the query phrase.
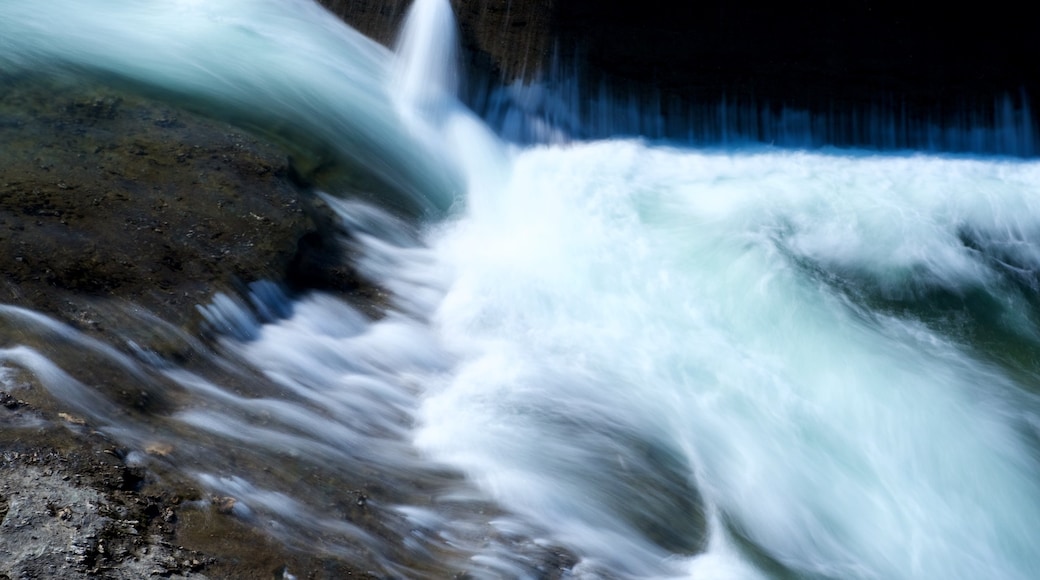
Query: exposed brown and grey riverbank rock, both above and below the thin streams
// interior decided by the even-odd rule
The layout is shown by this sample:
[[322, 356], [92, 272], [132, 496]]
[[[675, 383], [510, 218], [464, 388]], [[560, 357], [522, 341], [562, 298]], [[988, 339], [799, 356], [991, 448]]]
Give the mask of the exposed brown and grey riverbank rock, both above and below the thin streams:
[[[251, 282], [379, 301], [283, 152], [110, 88], [25, 77], [0, 87], [3, 304], [130, 355], [189, 360], [206, 348], [190, 339], [205, 339], [197, 305]], [[0, 347], [30, 340], [2, 325]], [[133, 389], [72, 352], [56, 361], [72, 375]], [[131, 466], [95, 427], [0, 366], [0, 578], [364, 576], [358, 562], [284, 548], [230, 516], [231, 499]]]

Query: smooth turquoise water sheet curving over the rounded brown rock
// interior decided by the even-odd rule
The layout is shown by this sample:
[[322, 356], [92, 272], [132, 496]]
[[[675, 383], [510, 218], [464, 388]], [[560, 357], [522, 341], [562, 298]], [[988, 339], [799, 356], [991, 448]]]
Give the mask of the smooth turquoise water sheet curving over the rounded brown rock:
[[461, 195], [451, 162], [400, 123], [390, 54], [310, 0], [2, 7], [8, 72], [86, 74], [174, 100], [274, 138], [305, 172], [353, 167], [333, 183], [367, 174], [355, 189], [407, 213]]

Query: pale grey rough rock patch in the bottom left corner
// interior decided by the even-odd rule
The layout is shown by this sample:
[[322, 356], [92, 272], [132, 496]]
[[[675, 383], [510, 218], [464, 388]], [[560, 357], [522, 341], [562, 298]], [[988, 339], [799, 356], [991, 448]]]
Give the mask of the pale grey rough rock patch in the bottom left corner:
[[118, 460], [92, 456], [89, 447], [5, 447], [0, 572], [6, 577], [205, 578], [196, 573], [208, 560], [170, 543], [162, 515], [172, 520], [173, 508], [124, 491]]

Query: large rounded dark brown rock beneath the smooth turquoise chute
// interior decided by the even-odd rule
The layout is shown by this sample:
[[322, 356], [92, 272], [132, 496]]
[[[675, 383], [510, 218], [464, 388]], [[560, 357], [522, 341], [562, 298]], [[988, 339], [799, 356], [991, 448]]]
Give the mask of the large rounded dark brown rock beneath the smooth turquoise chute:
[[[341, 262], [282, 152], [105, 88], [0, 87], [0, 300], [88, 331], [115, 299], [190, 326], [215, 291], [324, 281], [313, 268]], [[349, 272], [324, 284], [359, 286]]]

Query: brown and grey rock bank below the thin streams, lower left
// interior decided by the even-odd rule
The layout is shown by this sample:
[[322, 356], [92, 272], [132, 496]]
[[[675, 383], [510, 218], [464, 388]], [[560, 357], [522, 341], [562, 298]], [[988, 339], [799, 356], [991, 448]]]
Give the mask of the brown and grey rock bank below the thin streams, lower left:
[[80, 418], [0, 392], [0, 578], [366, 577], [287, 550], [220, 501], [128, 465]]

